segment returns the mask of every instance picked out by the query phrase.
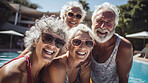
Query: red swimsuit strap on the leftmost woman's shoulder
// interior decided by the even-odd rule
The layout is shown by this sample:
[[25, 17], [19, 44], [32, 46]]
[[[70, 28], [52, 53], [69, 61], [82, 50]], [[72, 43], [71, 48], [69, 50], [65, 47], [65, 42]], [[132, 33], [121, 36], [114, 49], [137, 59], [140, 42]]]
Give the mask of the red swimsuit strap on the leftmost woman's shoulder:
[[25, 55], [24, 57], [26, 58], [26, 63], [27, 63], [27, 78], [28, 78], [28, 82], [32, 83], [31, 63], [30, 63], [29, 57], [27, 55]]

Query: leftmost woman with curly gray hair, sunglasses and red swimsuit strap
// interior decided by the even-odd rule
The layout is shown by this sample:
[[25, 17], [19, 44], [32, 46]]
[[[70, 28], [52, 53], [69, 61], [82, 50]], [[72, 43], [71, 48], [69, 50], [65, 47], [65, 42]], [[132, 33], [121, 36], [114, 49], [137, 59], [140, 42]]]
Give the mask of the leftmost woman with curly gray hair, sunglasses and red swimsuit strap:
[[26, 32], [25, 46], [31, 54], [19, 56], [0, 68], [0, 83], [41, 83], [44, 66], [58, 55], [66, 33], [59, 18], [43, 16]]

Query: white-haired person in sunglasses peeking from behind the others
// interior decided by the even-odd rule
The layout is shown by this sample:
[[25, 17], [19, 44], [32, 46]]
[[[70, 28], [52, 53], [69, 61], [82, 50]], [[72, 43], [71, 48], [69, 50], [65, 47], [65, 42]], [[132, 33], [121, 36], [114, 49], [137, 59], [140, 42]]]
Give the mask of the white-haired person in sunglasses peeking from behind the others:
[[67, 2], [61, 9], [60, 17], [67, 24], [69, 29], [76, 27], [83, 22], [86, 11], [78, 1]]

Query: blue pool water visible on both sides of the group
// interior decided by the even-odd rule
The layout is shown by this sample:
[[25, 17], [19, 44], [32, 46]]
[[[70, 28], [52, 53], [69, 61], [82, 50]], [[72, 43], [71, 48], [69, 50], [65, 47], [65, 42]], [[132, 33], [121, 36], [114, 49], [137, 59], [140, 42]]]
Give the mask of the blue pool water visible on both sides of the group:
[[[17, 56], [17, 52], [0, 52], [0, 66]], [[148, 83], [148, 64], [133, 61], [129, 83]]]

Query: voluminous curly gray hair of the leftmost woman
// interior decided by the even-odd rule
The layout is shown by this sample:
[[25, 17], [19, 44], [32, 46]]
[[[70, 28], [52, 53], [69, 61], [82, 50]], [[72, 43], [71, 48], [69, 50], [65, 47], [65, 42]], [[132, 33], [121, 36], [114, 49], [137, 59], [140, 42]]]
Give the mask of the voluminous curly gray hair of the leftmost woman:
[[54, 15], [50, 17], [43, 15], [41, 19], [37, 19], [35, 25], [26, 31], [26, 37], [24, 39], [25, 47], [28, 49], [33, 48], [33, 44], [37, 43], [38, 38], [44, 30], [49, 30], [61, 35], [64, 39], [66, 37], [66, 27], [62, 20]]

